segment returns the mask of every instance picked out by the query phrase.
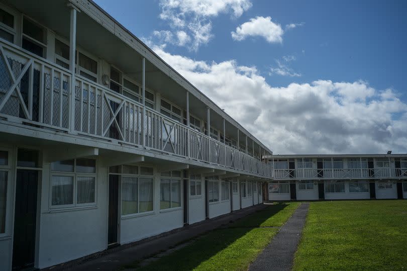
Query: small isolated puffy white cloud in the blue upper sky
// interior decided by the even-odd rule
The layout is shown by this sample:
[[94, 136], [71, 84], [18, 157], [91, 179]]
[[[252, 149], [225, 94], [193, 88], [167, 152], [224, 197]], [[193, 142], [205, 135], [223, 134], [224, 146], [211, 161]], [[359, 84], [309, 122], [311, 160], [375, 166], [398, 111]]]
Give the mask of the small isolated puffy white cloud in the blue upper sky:
[[231, 32], [234, 40], [244, 40], [247, 37], [260, 36], [266, 39], [269, 43], [281, 43], [284, 31], [281, 26], [271, 21], [271, 17], [261, 17], [250, 19], [248, 22], [236, 28], [235, 32]]

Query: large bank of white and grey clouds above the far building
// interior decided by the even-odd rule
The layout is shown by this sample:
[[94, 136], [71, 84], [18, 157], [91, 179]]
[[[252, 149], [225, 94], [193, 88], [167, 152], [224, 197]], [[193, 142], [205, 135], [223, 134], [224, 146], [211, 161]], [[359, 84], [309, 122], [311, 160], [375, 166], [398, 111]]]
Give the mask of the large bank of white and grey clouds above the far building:
[[407, 152], [407, 104], [394, 89], [331, 80], [273, 87], [234, 60], [154, 50], [275, 154]]

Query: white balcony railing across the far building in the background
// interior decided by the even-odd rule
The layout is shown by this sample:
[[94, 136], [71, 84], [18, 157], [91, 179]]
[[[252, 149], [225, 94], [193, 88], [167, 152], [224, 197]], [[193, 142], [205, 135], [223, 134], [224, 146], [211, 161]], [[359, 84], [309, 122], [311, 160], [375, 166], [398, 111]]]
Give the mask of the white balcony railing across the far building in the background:
[[274, 177], [277, 178], [391, 178], [407, 177], [407, 168], [297, 168], [297, 169], [274, 169]]

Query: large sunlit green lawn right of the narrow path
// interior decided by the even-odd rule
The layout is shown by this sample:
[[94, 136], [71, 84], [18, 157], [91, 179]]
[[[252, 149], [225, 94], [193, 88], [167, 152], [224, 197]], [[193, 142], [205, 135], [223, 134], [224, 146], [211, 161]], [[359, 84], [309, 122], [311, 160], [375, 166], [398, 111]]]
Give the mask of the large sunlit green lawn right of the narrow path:
[[407, 269], [407, 201], [313, 202], [294, 270]]

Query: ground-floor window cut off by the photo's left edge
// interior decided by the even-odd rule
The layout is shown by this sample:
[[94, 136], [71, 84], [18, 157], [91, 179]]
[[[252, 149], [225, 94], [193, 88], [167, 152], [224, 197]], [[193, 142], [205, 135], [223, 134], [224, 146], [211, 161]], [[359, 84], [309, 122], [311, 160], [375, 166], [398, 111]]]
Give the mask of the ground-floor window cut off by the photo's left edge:
[[6, 232], [7, 186], [10, 170], [8, 162], [9, 152], [0, 150], [0, 234]]

